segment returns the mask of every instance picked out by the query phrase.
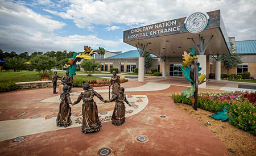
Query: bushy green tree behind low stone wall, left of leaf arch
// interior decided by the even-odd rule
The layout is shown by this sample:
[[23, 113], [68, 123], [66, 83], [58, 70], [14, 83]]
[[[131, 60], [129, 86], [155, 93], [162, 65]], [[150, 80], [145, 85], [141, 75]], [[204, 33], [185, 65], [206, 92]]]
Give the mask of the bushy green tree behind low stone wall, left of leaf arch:
[[56, 58], [42, 54], [36, 55], [31, 60], [32, 68], [36, 69], [40, 75], [47, 75], [48, 71], [55, 67], [56, 64]]

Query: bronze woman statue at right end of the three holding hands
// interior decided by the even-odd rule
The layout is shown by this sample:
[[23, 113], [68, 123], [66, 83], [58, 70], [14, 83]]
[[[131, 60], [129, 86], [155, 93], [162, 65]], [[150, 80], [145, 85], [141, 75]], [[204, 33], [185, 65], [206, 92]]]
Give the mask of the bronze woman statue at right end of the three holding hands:
[[111, 120], [112, 124], [116, 126], [125, 123], [125, 103], [123, 102], [126, 102], [129, 106], [131, 106], [126, 99], [124, 92], [125, 88], [120, 87], [119, 94], [114, 95], [113, 98], [109, 100], [109, 102], [115, 101], [115, 108]]

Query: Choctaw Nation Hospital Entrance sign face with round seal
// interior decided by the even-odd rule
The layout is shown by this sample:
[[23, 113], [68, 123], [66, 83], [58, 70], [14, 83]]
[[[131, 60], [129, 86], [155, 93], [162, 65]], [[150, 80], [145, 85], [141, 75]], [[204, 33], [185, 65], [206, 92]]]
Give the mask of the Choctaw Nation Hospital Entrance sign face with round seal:
[[123, 31], [123, 41], [126, 43], [127, 41], [175, 35], [179, 33], [198, 33], [204, 29], [218, 27], [220, 27], [220, 10], [207, 12], [207, 14], [196, 12], [187, 18], [168, 20], [166, 22], [160, 22]]

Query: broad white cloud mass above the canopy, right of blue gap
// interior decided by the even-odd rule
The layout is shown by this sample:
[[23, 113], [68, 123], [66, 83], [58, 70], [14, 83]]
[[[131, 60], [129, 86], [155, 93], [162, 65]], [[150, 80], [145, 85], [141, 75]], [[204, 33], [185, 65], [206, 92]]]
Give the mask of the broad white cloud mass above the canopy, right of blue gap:
[[[152, 24], [165, 20], [181, 18], [196, 11], [221, 10], [222, 17], [229, 36], [236, 36], [238, 40], [256, 38], [256, 1], [255, 0], [105, 0], [69, 2], [62, 18], [73, 19], [79, 28], [91, 27], [92, 24]], [[49, 11], [48, 11], [49, 12]], [[52, 12], [58, 15], [57, 12]], [[240, 32], [243, 29], [243, 33]]]

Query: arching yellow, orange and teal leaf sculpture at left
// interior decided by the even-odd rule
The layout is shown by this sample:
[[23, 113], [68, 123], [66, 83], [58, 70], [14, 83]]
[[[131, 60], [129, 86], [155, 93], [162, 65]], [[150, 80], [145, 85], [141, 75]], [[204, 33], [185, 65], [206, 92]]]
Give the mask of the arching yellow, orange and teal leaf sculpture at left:
[[69, 76], [73, 77], [73, 75], [76, 75], [76, 62], [80, 61], [81, 59], [86, 59], [86, 60], [92, 60], [92, 55], [98, 53], [98, 54], [105, 54], [105, 49], [99, 47], [97, 50], [93, 50], [88, 46], [84, 47], [84, 52], [80, 53], [73, 53], [73, 57], [69, 58], [68, 65], [67, 66], [68, 71], [69, 71]]

